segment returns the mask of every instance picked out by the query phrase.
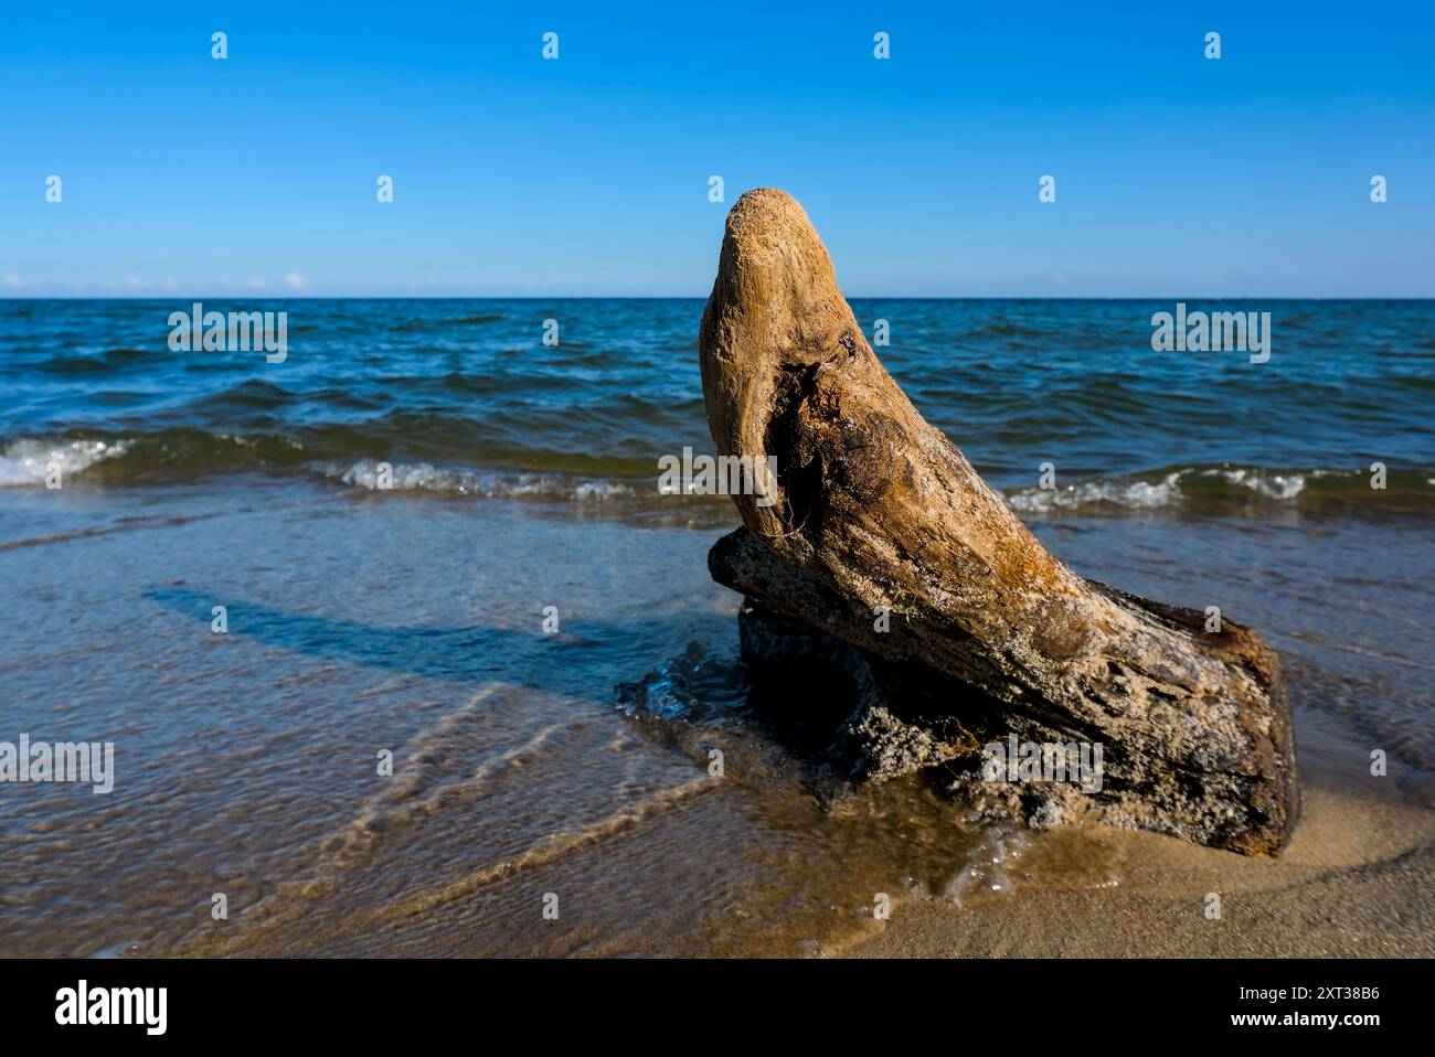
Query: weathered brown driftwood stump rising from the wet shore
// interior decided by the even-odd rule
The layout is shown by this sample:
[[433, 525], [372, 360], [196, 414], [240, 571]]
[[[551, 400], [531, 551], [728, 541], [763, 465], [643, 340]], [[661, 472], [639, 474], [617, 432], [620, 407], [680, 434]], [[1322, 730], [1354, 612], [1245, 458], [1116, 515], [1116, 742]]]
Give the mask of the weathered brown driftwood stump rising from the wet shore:
[[[1095, 810], [1247, 853], [1284, 843], [1300, 795], [1274, 653], [1052, 556], [883, 369], [789, 195], [749, 191], [729, 214], [700, 357], [718, 450], [778, 468], [776, 502], [735, 496], [745, 528], [713, 577], [748, 598], [759, 670], [852, 677], [845, 736], [871, 772], [940, 762], [1045, 822]], [[1101, 744], [1101, 792], [980, 782], [979, 746], [1009, 734]]]

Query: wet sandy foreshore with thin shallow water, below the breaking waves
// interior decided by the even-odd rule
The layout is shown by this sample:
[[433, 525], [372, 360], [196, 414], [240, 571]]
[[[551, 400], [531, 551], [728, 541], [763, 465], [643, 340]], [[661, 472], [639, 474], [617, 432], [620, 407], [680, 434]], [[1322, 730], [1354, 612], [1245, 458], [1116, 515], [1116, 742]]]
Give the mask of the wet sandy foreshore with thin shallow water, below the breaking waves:
[[730, 508], [662, 509], [247, 478], [0, 496], [4, 731], [116, 743], [109, 796], [0, 793], [0, 957], [1435, 952], [1428, 595], [1388, 587], [1422, 582], [1425, 534], [1038, 529], [1088, 575], [1218, 592], [1281, 650], [1306, 812], [1270, 861], [819, 789], [749, 707], [739, 599], [706, 572]]

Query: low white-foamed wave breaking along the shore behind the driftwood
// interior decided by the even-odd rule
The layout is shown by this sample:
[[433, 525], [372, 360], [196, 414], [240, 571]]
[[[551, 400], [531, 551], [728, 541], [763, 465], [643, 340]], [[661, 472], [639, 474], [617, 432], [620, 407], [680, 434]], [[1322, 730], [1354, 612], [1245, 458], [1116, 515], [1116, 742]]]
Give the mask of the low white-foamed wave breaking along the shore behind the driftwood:
[[[367, 452], [363, 449], [369, 447]], [[198, 482], [224, 473], [309, 476], [363, 489], [471, 499], [541, 499], [577, 503], [728, 506], [723, 496], [659, 495], [657, 453], [594, 456], [585, 452], [485, 446], [468, 459], [441, 447], [441, 458], [412, 458], [382, 439], [369, 445], [352, 427], [303, 440], [278, 433], [231, 435], [199, 429], [149, 433], [16, 437], [0, 447], [0, 488], [44, 488], [50, 468], [65, 485], [119, 488]], [[462, 446], [459, 446], [462, 447]], [[354, 450], [359, 449], [359, 450]], [[377, 452], [375, 449], [379, 449]], [[426, 452], [425, 452], [426, 455]], [[1142, 512], [1261, 516], [1389, 513], [1435, 515], [1431, 468], [1385, 472], [1373, 488], [1369, 469], [1254, 465], [1164, 466], [1126, 476], [1089, 476], [1055, 488], [1010, 486], [997, 492], [1020, 516], [1116, 516]]]

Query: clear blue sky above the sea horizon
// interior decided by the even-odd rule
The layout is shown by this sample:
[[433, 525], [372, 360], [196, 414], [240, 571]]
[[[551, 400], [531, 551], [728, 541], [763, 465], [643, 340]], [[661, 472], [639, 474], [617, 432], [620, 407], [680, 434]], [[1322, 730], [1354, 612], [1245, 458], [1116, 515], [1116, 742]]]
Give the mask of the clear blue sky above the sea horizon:
[[1429, 3], [512, 7], [9, 4], [0, 295], [1435, 295]]

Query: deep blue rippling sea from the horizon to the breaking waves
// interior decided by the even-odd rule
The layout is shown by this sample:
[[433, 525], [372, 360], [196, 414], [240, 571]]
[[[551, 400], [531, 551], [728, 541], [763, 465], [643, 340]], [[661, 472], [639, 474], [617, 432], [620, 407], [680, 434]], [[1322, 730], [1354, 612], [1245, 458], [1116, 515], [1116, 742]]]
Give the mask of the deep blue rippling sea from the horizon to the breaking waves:
[[[172, 301], [0, 303], [0, 486], [59, 459], [110, 488], [227, 473], [475, 498], [651, 501], [710, 450], [700, 300], [210, 301], [288, 313], [284, 363], [169, 351]], [[1191, 303], [1271, 313], [1266, 363], [1157, 353], [1172, 303], [854, 300], [917, 407], [1017, 509], [1316, 512], [1435, 505], [1428, 301]], [[552, 320], [557, 344], [544, 344]], [[1058, 489], [1038, 485], [1052, 462]], [[1370, 495], [1370, 463], [1388, 470]], [[1055, 493], [1052, 493], [1055, 492]]]

